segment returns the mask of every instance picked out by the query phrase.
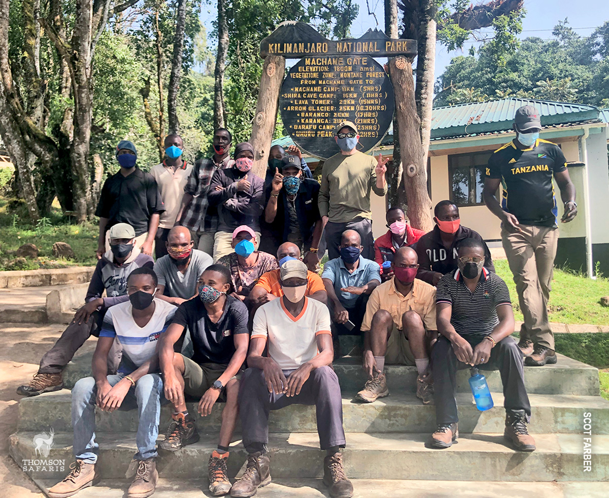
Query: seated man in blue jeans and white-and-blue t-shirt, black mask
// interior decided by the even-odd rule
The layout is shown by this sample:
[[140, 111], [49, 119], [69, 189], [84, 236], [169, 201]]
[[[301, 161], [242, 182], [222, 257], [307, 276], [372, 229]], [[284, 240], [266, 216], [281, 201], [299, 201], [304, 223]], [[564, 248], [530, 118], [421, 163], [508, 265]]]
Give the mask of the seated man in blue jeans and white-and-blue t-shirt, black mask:
[[[158, 421], [163, 395], [163, 381], [158, 373], [158, 338], [171, 323], [173, 304], [155, 299], [157, 275], [142, 267], [130, 273], [127, 280], [129, 301], [108, 309], [93, 354], [93, 377], [76, 382], [72, 389], [72, 445], [76, 461], [72, 471], [49, 489], [51, 498], [76, 494], [93, 485], [99, 446], [95, 441], [95, 407], [107, 412], [116, 409], [138, 409], [136, 435], [138, 452], [135, 479], [127, 491], [128, 498], [143, 498], [154, 493], [158, 480]], [[108, 351], [116, 340], [122, 346], [118, 374], [108, 375]]]

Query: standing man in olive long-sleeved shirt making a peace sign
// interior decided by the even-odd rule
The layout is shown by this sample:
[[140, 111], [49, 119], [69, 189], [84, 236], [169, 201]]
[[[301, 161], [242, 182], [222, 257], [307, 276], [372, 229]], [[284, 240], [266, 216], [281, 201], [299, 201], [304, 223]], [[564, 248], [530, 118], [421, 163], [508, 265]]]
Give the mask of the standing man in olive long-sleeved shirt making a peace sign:
[[357, 127], [343, 121], [336, 128], [334, 140], [340, 152], [323, 163], [322, 186], [319, 191], [319, 212], [326, 231], [328, 258], [339, 257], [338, 247], [343, 231], [351, 228], [362, 237], [362, 256], [375, 257], [372, 236], [370, 191], [387, 194], [387, 161], [382, 155], [369, 156], [357, 150]]

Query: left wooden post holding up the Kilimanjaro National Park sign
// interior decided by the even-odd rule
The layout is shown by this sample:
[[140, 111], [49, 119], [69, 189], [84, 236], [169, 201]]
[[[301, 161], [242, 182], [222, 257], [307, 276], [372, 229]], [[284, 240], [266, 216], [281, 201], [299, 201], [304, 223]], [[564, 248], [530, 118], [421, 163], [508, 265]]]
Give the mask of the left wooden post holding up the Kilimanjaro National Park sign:
[[286, 59], [281, 55], [267, 55], [262, 66], [262, 77], [258, 91], [256, 117], [252, 126], [250, 144], [254, 149], [253, 172], [264, 178], [269, 159], [270, 143], [277, 122], [279, 92], [286, 70]]

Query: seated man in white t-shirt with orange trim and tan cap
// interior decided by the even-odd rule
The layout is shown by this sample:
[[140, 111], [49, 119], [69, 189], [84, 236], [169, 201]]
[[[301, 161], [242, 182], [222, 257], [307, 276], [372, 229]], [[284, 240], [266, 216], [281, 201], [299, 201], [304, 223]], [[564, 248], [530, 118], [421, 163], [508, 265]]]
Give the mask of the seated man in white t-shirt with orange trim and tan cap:
[[[270, 483], [269, 412], [291, 404], [315, 405], [323, 461], [323, 483], [333, 498], [353, 496], [340, 448], [345, 447], [339, 379], [330, 314], [325, 304], [305, 296], [307, 267], [292, 259], [280, 267], [283, 296], [259, 307], [254, 317], [248, 368], [239, 388], [247, 469], [231, 496], [253, 496]], [[268, 356], [262, 356], [268, 346]]]

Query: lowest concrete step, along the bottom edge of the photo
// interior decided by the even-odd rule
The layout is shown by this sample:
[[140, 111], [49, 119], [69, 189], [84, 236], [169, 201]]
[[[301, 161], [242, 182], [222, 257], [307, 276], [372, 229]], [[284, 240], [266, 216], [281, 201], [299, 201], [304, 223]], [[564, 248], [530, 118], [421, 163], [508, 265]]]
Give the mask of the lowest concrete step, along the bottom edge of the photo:
[[[53, 479], [34, 481], [43, 491], [55, 485]], [[606, 498], [607, 483], [602, 482], [473, 482], [351, 479], [354, 498]], [[102, 479], [96, 486], [79, 491], [79, 498], [124, 498], [130, 479]], [[159, 479], [155, 498], [200, 498], [211, 496], [206, 478], [197, 480]], [[484, 491], [481, 491], [484, 489]], [[328, 488], [321, 479], [274, 479], [259, 488], [260, 498], [322, 498]]]

